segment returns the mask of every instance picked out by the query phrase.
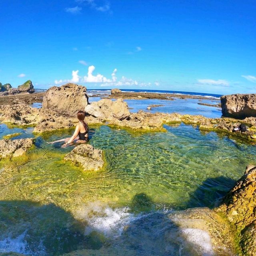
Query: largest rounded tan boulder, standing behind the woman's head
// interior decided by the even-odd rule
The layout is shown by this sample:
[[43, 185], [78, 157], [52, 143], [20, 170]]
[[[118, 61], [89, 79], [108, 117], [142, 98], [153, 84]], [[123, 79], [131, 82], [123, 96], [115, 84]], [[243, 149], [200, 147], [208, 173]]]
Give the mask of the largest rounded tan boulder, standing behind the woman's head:
[[53, 86], [44, 94], [42, 108], [62, 116], [75, 117], [79, 110], [88, 105], [86, 87], [77, 84]]

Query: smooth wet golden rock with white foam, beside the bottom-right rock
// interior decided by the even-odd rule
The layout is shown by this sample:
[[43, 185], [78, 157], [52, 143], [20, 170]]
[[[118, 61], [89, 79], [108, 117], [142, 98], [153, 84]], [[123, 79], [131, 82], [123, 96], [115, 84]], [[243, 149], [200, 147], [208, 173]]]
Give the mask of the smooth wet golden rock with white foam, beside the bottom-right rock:
[[186, 248], [190, 249], [187, 255], [236, 255], [235, 238], [230, 225], [213, 210], [191, 208], [173, 212], [169, 218], [178, 227], [175, 233], [170, 234], [170, 240], [177, 236], [184, 240], [184, 255]]

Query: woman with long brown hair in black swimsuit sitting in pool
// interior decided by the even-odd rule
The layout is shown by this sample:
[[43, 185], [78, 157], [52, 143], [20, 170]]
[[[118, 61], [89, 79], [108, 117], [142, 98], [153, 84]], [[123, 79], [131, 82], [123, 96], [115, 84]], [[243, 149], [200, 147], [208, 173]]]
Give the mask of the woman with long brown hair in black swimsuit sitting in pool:
[[56, 142], [65, 141], [65, 143], [61, 147], [66, 148], [66, 146], [68, 146], [72, 142], [75, 142], [75, 143], [88, 142], [89, 141], [89, 137], [88, 137], [89, 128], [88, 128], [88, 124], [86, 124], [86, 122], [84, 122], [85, 112], [82, 110], [78, 111], [77, 118], [79, 120], [79, 123], [76, 125], [76, 130], [74, 131], [74, 134], [71, 138], [65, 138], [65, 139], [56, 140], [53, 142], [48, 142], [48, 144], [54, 144]]

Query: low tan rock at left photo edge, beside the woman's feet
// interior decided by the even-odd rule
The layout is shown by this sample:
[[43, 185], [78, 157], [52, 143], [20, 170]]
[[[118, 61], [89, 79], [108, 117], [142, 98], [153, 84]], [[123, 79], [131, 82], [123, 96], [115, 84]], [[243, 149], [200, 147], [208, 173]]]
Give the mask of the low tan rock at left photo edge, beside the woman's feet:
[[0, 157], [23, 155], [33, 145], [32, 139], [0, 140]]

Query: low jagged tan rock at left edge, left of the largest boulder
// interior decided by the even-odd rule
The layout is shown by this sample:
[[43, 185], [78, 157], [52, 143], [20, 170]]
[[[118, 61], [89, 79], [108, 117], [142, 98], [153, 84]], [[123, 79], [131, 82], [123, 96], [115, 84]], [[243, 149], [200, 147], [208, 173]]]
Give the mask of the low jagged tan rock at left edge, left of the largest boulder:
[[18, 126], [35, 125], [39, 120], [39, 110], [26, 104], [2, 105], [0, 112], [2, 122]]

